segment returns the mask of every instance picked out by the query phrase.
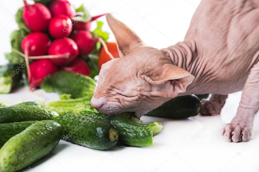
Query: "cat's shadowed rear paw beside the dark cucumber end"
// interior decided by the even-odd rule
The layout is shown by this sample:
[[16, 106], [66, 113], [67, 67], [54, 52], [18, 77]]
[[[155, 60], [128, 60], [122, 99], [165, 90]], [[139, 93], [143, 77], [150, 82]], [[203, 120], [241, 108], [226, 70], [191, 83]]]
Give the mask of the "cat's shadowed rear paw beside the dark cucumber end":
[[211, 100], [202, 100], [202, 110], [200, 111], [202, 115], [211, 115], [215, 116], [220, 114], [221, 109], [223, 108], [224, 104], [218, 101], [211, 101]]

